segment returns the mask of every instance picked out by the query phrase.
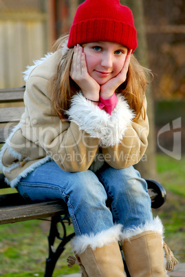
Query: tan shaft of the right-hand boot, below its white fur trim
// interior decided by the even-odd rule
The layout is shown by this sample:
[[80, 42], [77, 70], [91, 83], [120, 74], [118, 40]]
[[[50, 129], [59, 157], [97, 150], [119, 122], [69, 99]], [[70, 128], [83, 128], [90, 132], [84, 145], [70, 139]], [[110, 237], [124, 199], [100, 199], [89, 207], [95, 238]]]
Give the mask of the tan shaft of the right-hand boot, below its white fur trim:
[[132, 277], [166, 277], [160, 234], [146, 231], [124, 240], [122, 251]]

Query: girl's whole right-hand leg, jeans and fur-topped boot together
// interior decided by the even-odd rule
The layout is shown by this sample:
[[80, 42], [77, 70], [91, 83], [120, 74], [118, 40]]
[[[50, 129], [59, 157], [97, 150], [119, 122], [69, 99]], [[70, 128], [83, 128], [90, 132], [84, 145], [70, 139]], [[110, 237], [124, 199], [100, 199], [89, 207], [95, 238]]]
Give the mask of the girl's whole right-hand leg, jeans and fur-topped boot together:
[[113, 218], [121, 223], [121, 245], [132, 277], [166, 276], [162, 246], [163, 227], [153, 220], [146, 182], [133, 167], [98, 173], [111, 199]]

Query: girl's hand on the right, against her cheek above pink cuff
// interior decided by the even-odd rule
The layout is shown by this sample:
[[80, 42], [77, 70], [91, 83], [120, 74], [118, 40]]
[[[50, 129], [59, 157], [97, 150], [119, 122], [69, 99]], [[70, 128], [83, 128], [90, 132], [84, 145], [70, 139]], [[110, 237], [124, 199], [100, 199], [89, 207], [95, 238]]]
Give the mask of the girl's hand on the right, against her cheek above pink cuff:
[[129, 50], [120, 73], [116, 77], [107, 81], [107, 83], [105, 83], [104, 85], [101, 85], [100, 96], [102, 96], [103, 98], [105, 98], [105, 99], [111, 98], [111, 96], [115, 92], [116, 88], [118, 88], [119, 85], [124, 83], [124, 81], [126, 80], [127, 72], [129, 69], [129, 63], [130, 63], [130, 59], [131, 59], [131, 52], [132, 52], [132, 50]]

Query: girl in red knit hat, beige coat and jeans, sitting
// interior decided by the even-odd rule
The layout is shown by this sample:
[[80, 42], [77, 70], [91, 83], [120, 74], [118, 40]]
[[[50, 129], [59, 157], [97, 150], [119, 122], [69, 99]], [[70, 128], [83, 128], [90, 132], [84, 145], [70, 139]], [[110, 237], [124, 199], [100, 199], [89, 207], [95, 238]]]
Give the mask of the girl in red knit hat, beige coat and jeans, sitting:
[[166, 276], [162, 223], [133, 168], [149, 133], [136, 47], [129, 8], [86, 0], [69, 36], [28, 68], [25, 112], [1, 152], [23, 197], [67, 203], [84, 276], [124, 276], [118, 241], [131, 276]]

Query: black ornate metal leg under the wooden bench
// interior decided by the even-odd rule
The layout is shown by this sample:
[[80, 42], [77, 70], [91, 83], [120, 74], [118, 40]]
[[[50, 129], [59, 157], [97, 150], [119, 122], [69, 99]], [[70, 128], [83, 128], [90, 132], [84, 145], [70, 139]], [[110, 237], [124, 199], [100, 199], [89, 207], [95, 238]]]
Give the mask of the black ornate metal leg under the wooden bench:
[[[61, 223], [63, 227], [63, 237], [61, 237], [58, 232], [58, 227], [57, 227], [58, 223]], [[61, 254], [63, 253], [63, 251], [65, 250], [65, 245], [75, 236], [74, 233], [69, 234], [67, 236], [65, 223], [70, 224], [69, 215], [52, 217], [52, 222], [50, 225], [50, 234], [47, 237], [48, 243], [49, 243], [49, 257], [46, 259], [45, 277], [52, 276], [56, 262], [58, 258], [61, 256]], [[58, 238], [59, 240], [61, 240], [61, 243], [59, 243], [57, 249], [54, 249], [55, 238]]]

